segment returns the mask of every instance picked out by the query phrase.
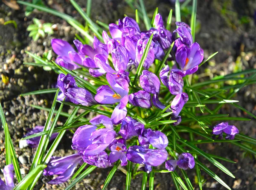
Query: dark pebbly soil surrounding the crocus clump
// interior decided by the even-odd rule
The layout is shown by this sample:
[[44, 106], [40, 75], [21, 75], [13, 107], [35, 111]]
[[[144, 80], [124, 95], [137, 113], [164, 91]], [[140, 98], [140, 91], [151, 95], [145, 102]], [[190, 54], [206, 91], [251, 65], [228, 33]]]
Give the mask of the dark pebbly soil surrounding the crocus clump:
[[[45, 5], [64, 11], [75, 19], [82, 22], [79, 13], [73, 8], [69, 0], [49, 0], [44, 1]], [[86, 1], [78, 0], [77, 3], [82, 7], [86, 7]], [[156, 7], [167, 20], [169, 10], [174, 9], [174, 5], [169, 0], [148, 0], [145, 1], [149, 15], [154, 13]], [[49, 108], [52, 103], [54, 94], [42, 94], [20, 97], [19, 94], [35, 91], [40, 89], [51, 88], [55, 84], [57, 75], [52, 71], [44, 71], [42, 68], [23, 65], [23, 62], [34, 62], [34, 60], [25, 53], [30, 51], [33, 54], [42, 55], [45, 51], [51, 49], [50, 41], [52, 38], [61, 38], [72, 43], [76, 29], [58, 17], [49, 15], [41, 11], [33, 11], [31, 15], [25, 17], [24, 7], [20, 6], [20, 10], [13, 10], [0, 2], [0, 73], [9, 77], [9, 84], [4, 84], [0, 80], [0, 102], [3, 105], [6, 114], [6, 121], [9, 125], [12, 141], [15, 145], [15, 151], [20, 160], [22, 174], [29, 171], [33, 153], [35, 149], [19, 148], [20, 138], [28, 130], [36, 125], [44, 125], [47, 118], [47, 111], [40, 111], [32, 108], [30, 105], [40, 105]], [[204, 56], [208, 57], [212, 53], [219, 53], [209, 62], [200, 68], [198, 73], [206, 73], [205, 77], [200, 80], [214, 77], [218, 74], [229, 74], [239, 65], [242, 69], [256, 68], [256, 25], [253, 15], [256, 10], [255, 0], [198, 0], [197, 20], [200, 23], [200, 29], [196, 35], [196, 41], [204, 49]], [[124, 0], [94, 0], [91, 17], [104, 23], [112, 23], [123, 17], [123, 14], [134, 17], [134, 12], [125, 3]], [[175, 15], [175, 14], [173, 14]], [[29, 32], [26, 31], [27, 26], [32, 23], [32, 18], [38, 18], [46, 23], [57, 25], [58, 30], [53, 35], [34, 42], [28, 37]], [[12, 24], [3, 25], [3, 22], [15, 20], [17, 28]], [[182, 20], [189, 22], [187, 17]], [[174, 29], [175, 17], [172, 20], [172, 28]], [[54, 55], [55, 56], [55, 55]], [[199, 75], [200, 76], [200, 75]], [[234, 97], [239, 100], [239, 105], [244, 106], [248, 111], [256, 114], [256, 86], [250, 85], [243, 88]], [[68, 110], [68, 108], [65, 108]], [[237, 108], [225, 105], [220, 113], [228, 113], [231, 117], [247, 117], [252, 119], [246, 113]], [[60, 119], [58, 125], [62, 125], [63, 118]], [[239, 130], [256, 138], [256, 121], [252, 119], [250, 122], [233, 122]], [[66, 133], [63, 142], [56, 150], [55, 156], [64, 156], [74, 153], [71, 149], [72, 133]], [[0, 168], [5, 165], [5, 147], [4, 132], [0, 129]], [[200, 146], [205, 152], [216, 154], [234, 160], [237, 164], [221, 162], [235, 176], [236, 179], [227, 176], [222, 171], [213, 167], [206, 160], [200, 158], [200, 161], [209, 166], [223, 181], [225, 181], [232, 189], [253, 190], [256, 189], [256, 160], [252, 156], [244, 155], [243, 151], [231, 144], [218, 144]], [[21, 163], [22, 162], [22, 163]], [[163, 166], [162, 166], [163, 167]], [[74, 187], [79, 190], [99, 190], [104, 184], [105, 179], [111, 169], [96, 169], [88, 175], [83, 181]], [[225, 188], [218, 184], [214, 179], [203, 171], [201, 172], [207, 182], [204, 184], [205, 190], [224, 190]], [[195, 170], [188, 170], [189, 178], [195, 184]], [[0, 174], [3, 179], [3, 174]], [[109, 190], [122, 190], [125, 188], [125, 174], [117, 170], [111, 180]], [[47, 181], [52, 177], [41, 177], [36, 190], [64, 189], [68, 183], [60, 185], [49, 185]], [[131, 190], [140, 189], [142, 176], [138, 175], [131, 181]], [[174, 190], [174, 183], [170, 174], [155, 174], [156, 190]], [[42, 187], [43, 186], [43, 187]], [[195, 184], [196, 190], [199, 189]], [[42, 187], [42, 188], [41, 188]]]

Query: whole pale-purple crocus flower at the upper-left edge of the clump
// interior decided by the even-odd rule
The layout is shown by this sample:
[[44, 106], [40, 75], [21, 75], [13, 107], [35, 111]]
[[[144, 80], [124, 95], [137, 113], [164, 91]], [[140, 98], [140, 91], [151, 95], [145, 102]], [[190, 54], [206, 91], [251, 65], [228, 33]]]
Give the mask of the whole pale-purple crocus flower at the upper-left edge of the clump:
[[52, 49], [58, 55], [56, 63], [69, 70], [79, 68], [74, 62], [82, 64], [84, 55], [81, 54], [82, 43], [79, 40], [74, 40], [74, 44], [78, 49], [79, 53], [66, 41], [61, 39], [52, 39]]

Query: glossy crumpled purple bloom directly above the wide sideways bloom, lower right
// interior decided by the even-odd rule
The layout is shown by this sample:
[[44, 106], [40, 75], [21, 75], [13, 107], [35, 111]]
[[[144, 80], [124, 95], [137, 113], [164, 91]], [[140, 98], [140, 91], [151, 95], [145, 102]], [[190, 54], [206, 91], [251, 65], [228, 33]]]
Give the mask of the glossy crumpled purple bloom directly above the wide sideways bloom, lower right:
[[168, 145], [167, 136], [158, 130], [148, 129], [147, 139], [148, 142], [155, 148], [163, 149]]

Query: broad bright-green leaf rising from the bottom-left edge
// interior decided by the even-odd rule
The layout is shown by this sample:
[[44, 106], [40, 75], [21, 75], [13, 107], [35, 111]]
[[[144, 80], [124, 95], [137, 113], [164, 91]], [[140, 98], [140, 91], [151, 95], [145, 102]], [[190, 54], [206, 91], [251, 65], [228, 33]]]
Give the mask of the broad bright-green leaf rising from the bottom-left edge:
[[29, 185], [32, 183], [32, 181], [34, 180], [35, 176], [38, 175], [38, 173], [40, 173], [41, 171], [44, 170], [44, 168], [46, 168], [47, 165], [44, 164], [40, 164], [37, 167], [35, 167], [33, 170], [31, 170], [24, 179], [22, 179], [20, 181], [19, 184], [17, 184], [16, 187], [14, 187], [13, 190], [26, 190], [27, 187], [29, 187]]

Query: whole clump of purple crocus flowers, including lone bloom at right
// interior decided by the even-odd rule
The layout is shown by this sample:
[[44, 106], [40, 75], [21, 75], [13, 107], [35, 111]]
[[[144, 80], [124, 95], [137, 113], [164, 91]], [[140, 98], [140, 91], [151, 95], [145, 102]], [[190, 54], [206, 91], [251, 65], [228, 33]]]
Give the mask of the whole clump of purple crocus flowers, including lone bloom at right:
[[[82, 65], [92, 77], [105, 77], [108, 82], [92, 94], [79, 87], [71, 74], [59, 74], [57, 84], [61, 94], [74, 104], [114, 105], [114, 109], [111, 117], [97, 115], [90, 120], [90, 125], [76, 130], [72, 139], [76, 154], [52, 157], [44, 175], [55, 174], [58, 177], [49, 183], [67, 181], [76, 165], [82, 162], [106, 168], [112, 167], [118, 160], [121, 166], [130, 161], [143, 164], [140, 169], [147, 173], [164, 162], [169, 171], [174, 171], [177, 166], [183, 170], [195, 166], [194, 157], [187, 152], [180, 153], [175, 160], [168, 159], [167, 136], [159, 130], [147, 128], [128, 112], [131, 107], [150, 109], [154, 106], [172, 112], [172, 120], [175, 120], [172, 125], [179, 125], [180, 112], [189, 100], [188, 94], [183, 92], [183, 77], [195, 73], [204, 58], [204, 51], [193, 42], [191, 28], [186, 23], [177, 22], [177, 29], [173, 32], [164, 27], [160, 14], [155, 16], [154, 23], [155, 28], [141, 31], [135, 20], [125, 17], [118, 24], [109, 25], [111, 37], [103, 31], [104, 42], [94, 37], [93, 47], [74, 40], [77, 51], [64, 40], [52, 40], [58, 65], [69, 70], [79, 69]], [[137, 70], [151, 35], [153, 38], [143, 62], [139, 84], [132, 84], [129, 76]], [[155, 60], [163, 60], [172, 43], [174, 46], [168, 59], [175, 61], [175, 64], [172, 67], [164, 65], [160, 73], [151, 72], [151, 65]], [[169, 89], [170, 96], [174, 96], [169, 108], [161, 102], [161, 82]], [[235, 126], [221, 123], [213, 128], [212, 133], [220, 138], [222, 133], [226, 133], [226, 139], [233, 139], [238, 132]], [[131, 139], [136, 139], [137, 144], [131, 145]]]

